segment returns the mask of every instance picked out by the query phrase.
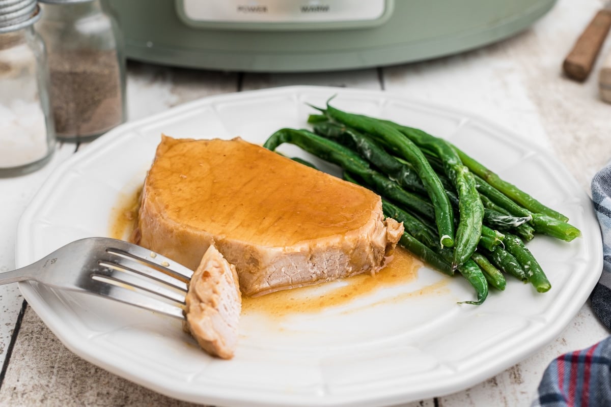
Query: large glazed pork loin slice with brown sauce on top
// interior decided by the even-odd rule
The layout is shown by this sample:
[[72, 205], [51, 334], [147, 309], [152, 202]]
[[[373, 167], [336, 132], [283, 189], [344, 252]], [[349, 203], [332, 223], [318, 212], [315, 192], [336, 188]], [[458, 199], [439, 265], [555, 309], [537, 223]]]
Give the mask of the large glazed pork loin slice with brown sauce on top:
[[214, 240], [253, 295], [374, 273], [402, 232], [359, 185], [241, 139], [163, 136], [135, 236], [192, 269]]

